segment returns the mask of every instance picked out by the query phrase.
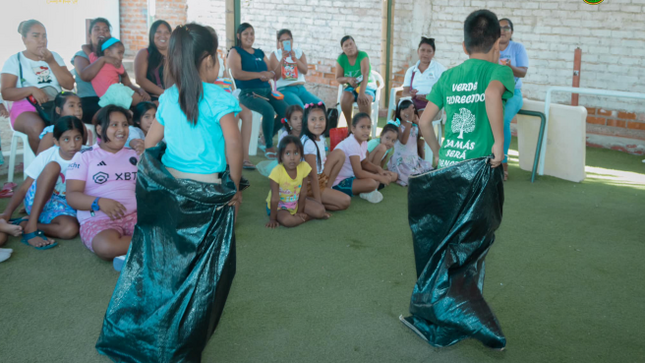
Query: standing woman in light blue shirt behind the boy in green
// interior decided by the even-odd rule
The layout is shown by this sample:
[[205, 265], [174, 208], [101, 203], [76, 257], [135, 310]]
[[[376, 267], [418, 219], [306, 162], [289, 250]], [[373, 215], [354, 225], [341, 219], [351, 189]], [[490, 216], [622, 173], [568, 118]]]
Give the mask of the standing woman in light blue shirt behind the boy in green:
[[529, 69], [529, 56], [522, 43], [513, 38], [513, 23], [504, 18], [499, 21], [502, 36], [499, 40], [499, 63], [510, 67], [515, 76], [515, 94], [504, 106], [504, 180], [508, 180], [508, 148], [511, 145], [511, 121], [522, 108], [522, 78]]

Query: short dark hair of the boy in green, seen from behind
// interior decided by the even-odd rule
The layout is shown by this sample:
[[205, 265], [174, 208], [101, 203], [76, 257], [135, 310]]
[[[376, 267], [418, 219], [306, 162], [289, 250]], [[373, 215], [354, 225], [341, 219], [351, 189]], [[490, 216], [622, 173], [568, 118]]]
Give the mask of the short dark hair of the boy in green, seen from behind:
[[464, 22], [464, 44], [468, 54], [488, 53], [501, 36], [497, 15], [490, 10], [477, 10]]

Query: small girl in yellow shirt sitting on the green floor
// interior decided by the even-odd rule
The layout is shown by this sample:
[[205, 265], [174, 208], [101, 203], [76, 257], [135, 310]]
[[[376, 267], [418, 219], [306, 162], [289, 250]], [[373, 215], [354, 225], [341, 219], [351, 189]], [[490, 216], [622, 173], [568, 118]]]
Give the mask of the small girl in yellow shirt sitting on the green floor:
[[299, 226], [310, 218], [327, 219], [329, 213], [319, 202], [307, 200], [307, 184], [305, 178], [310, 178], [311, 167], [302, 160], [302, 143], [295, 136], [285, 136], [278, 146], [278, 166], [273, 169], [271, 191], [267, 197], [267, 228], [276, 228], [280, 224], [285, 227]]

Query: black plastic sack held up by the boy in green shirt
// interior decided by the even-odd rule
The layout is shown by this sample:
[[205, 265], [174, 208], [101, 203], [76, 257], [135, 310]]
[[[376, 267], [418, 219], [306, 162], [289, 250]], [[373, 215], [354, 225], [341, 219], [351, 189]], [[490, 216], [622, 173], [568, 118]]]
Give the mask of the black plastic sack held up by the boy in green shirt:
[[502, 167], [487, 158], [410, 177], [408, 218], [417, 283], [401, 321], [435, 347], [465, 338], [502, 349], [506, 338], [484, 301], [484, 258], [502, 221]]

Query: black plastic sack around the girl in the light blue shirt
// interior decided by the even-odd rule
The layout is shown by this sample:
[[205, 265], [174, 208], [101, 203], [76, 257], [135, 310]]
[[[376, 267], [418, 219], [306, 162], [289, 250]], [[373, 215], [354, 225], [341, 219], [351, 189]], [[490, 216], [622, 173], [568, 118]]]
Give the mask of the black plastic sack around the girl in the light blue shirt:
[[139, 163], [138, 223], [96, 343], [115, 362], [200, 362], [235, 275], [235, 185], [177, 180], [164, 150]]

